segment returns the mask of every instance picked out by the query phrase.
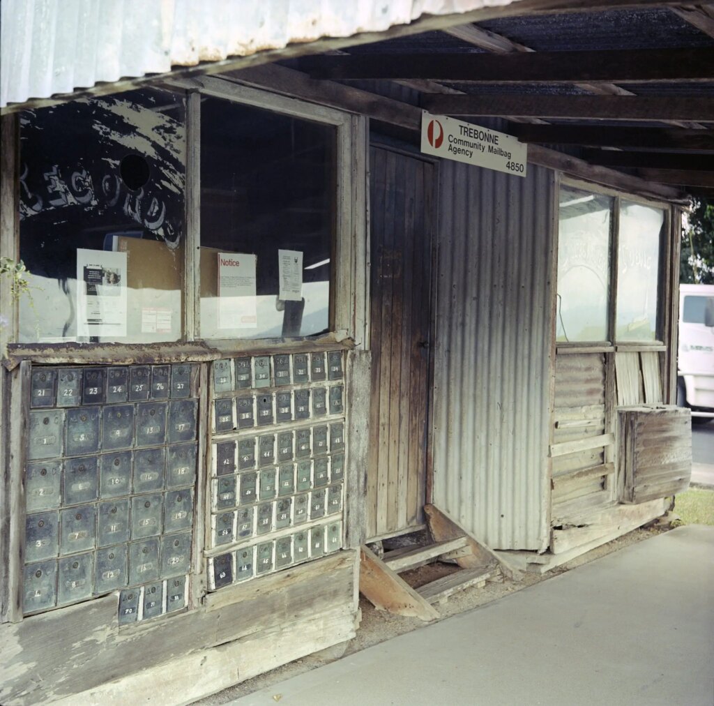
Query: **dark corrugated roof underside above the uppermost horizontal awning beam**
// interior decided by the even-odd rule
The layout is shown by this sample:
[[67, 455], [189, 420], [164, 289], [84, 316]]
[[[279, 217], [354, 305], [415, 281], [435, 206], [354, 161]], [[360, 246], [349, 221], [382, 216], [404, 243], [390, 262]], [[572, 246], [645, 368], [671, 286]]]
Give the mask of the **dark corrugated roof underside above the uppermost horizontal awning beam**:
[[535, 51], [714, 46], [710, 36], [661, 7], [504, 17], [478, 26]]

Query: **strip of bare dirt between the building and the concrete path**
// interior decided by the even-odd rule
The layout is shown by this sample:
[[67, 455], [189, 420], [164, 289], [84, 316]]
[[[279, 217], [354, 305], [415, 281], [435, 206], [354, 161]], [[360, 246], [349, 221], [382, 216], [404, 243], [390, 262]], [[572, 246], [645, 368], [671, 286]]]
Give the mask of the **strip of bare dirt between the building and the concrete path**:
[[[437, 606], [437, 610], [441, 614], [440, 620], [445, 620], [452, 615], [457, 615], [458, 613], [463, 613], [467, 610], [473, 610], [481, 605], [486, 605], [486, 603], [503, 598], [513, 592], [521, 591], [524, 588], [541, 581], [547, 581], [553, 576], [558, 576], [563, 572], [570, 571], [575, 567], [587, 564], [588, 562], [608, 555], [610, 552], [616, 552], [623, 549], [623, 547], [628, 547], [636, 542], [646, 540], [648, 537], [659, 535], [669, 529], [670, 527], [668, 524], [654, 524], [652, 527], [634, 530], [633, 532], [629, 532], [627, 535], [618, 537], [618, 539], [608, 542], [602, 547], [597, 547], [596, 549], [587, 552], [585, 555], [543, 575], [524, 573], [522, 580], [518, 582], [510, 580], [504, 580], [501, 583], [488, 582], [483, 588], [473, 587], [462, 592], [458, 592], [449, 597], [448, 602]], [[421, 569], [409, 572], [411, 577], [408, 578], [408, 583], [412, 585], [423, 585], [424, 583], [427, 583], [453, 570], [454, 568], [450, 565], [427, 565]], [[403, 576], [407, 577], [407, 575]], [[289, 662], [287, 665], [278, 667], [271, 672], [266, 672], [265, 674], [254, 677], [251, 680], [247, 680], [222, 692], [218, 692], [217, 694], [197, 701], [196, 704], [200, 704], [201, 706], [218, 706], [220, 704], [226, 704], [231, 702], [233, 699], [246, 696], [254, 691], [257, 691], [258, 689], [269, 687], [273, 684], [289, 679], [290, 677], [296, 677], [303, 672], [326, 665], [328, 662], [333, 662], [340, 657], [351, 655], [359, 650], [364, 650], [366, 647], [371, 647], [372, 645], [377, 645], [379, 642], [389, 640], [391, 637], [403, 635], [405, 632], [418, 630], [420, 627], [428, 625], [418, 618], [401, 617], [400, 615], [393, 615], [386, 611], [376, 610], [370, 602], [361, 596], [360, 609], [362, 617], [357, 630], [357, 635], [353, 638], [353, 640], [347, 642], [346, 645], [338, 645], [328, 650], [324, 650], [323, 652], [318, 652], [315, 655], [310, 655], [308, 657], [303, 657], [300, 660]]]

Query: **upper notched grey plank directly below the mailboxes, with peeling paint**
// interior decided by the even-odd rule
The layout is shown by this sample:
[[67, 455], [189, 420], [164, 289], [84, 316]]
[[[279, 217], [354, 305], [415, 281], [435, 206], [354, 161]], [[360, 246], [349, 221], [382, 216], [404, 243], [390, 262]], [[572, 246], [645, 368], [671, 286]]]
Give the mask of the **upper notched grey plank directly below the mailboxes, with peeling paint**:
[[[280, 631], [296, 617], [309, 621], [323, 610], [343, 607], [354, 614], [355, 562], [356, 552], [338, 552], [248, 582], [243, 600], [216, 610], [199, 608], [121, 630], [116, 593], [2, 625], [0, 703], [69, 697], [193, 650]], [[67, 635], [79, 637], [67, 640]]]

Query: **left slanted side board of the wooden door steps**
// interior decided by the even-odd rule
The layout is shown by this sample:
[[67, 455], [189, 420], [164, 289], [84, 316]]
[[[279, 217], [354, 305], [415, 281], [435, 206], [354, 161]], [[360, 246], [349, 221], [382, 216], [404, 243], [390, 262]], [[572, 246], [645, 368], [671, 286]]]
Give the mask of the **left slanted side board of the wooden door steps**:
[[439, 615], [431, 605], [367, 547], [362, 547], [359, 590], [377, 608], [425, 622]]

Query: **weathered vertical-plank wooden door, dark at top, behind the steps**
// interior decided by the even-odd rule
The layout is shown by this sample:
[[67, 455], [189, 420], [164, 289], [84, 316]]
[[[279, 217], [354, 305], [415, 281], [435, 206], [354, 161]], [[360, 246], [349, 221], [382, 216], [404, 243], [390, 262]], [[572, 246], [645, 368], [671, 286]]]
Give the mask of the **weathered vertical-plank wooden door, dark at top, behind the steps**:
[[371, 148], [372, 402], [368, 537], [423, 522], [431, 398], [436, 166]]

